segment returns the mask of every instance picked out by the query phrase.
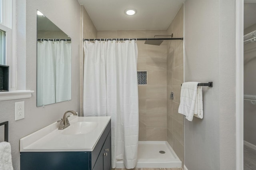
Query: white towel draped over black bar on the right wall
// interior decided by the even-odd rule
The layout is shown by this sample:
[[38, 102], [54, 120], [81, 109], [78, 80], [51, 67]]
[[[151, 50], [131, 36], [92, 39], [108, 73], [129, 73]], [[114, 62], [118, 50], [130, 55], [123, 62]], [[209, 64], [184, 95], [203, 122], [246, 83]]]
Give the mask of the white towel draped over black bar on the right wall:
[[178, 113], [185, 115], [188, 121], [192, 121], [193, 116], [202, 119], [204, 115], [202, 86], [198, 86], [198, 83], [182, 83]]

